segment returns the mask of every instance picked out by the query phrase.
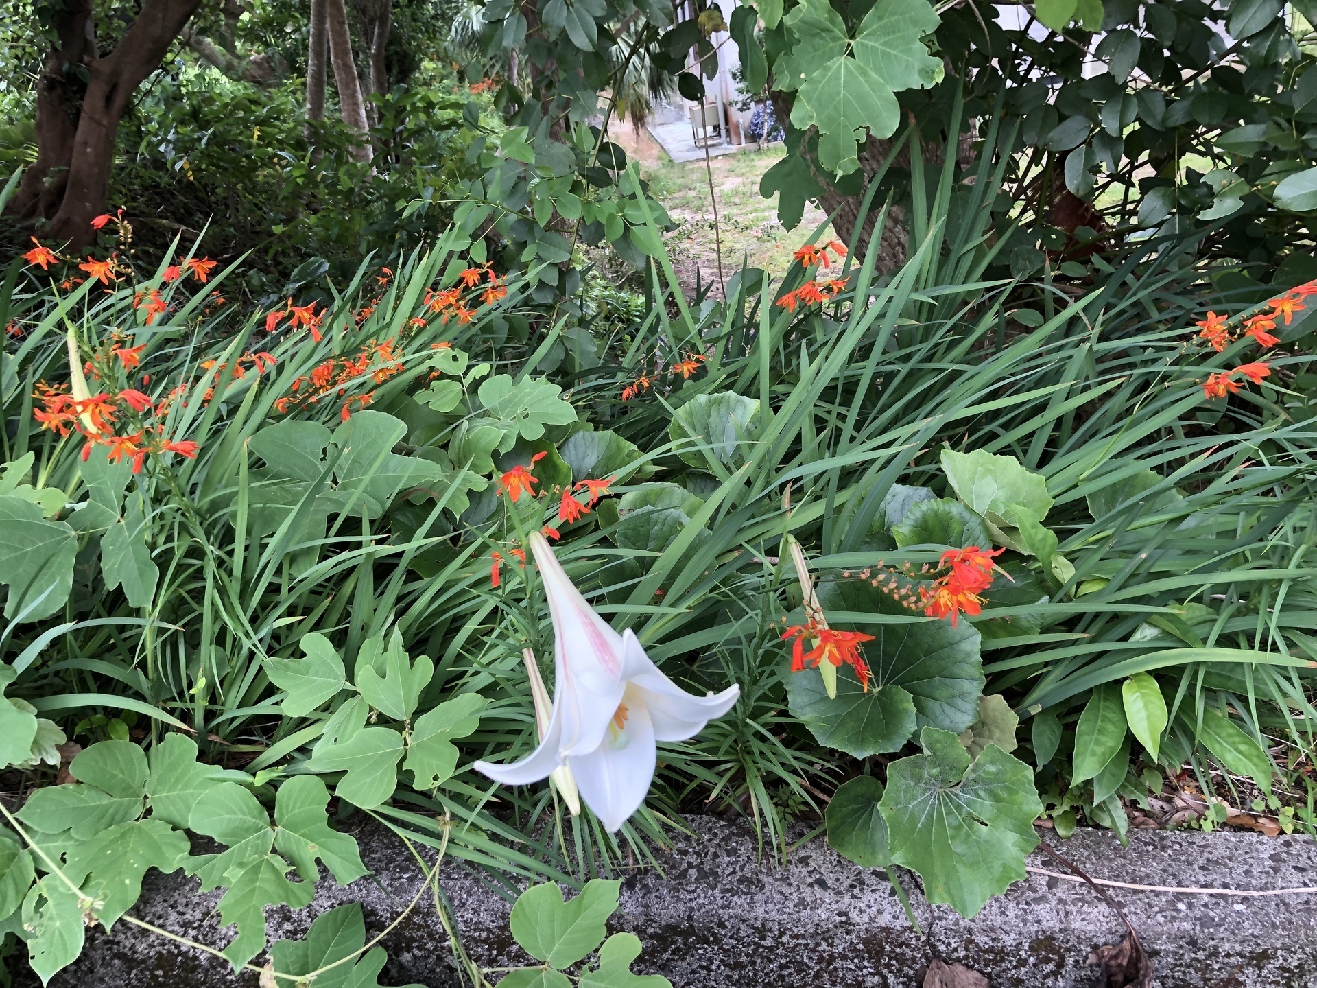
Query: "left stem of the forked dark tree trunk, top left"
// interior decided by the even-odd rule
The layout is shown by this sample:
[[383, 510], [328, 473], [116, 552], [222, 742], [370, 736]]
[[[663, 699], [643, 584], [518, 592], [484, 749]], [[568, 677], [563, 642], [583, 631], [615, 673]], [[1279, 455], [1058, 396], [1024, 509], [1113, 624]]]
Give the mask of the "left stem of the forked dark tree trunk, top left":
[[68, 183], [68, 163], [78, 133], [82, 83], [76, 71], [96, 58], [90, 0], [51, 8], [57, 42], [37, 82], [37, 159], [22, 175], [7, 211], [21, 221], [49, 220], [59, 209]]

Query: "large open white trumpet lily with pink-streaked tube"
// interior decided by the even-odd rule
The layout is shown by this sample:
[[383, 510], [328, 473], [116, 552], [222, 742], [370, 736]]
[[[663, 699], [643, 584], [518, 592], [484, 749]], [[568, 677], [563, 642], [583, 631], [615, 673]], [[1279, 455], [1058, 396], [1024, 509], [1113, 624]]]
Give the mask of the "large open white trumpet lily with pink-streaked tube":
[[620, 635], [572, 585], [543, 535], [531, 552], [544, 578], [553, 618], [553, 709], [540, 746], [520, 761], [475, 769], [504, 785], [527, 785], [566, 767], [581, 798], [614, 831], [649, 792], [656, 742], [694, 738], [740, 696], [686, 693], [660, 672], [635, 632]]

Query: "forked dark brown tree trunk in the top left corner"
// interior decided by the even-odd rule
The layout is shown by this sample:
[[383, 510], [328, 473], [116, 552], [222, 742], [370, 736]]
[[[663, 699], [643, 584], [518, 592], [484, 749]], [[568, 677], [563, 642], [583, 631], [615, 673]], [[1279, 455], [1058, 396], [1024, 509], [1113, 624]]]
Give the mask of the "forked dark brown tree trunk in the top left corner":
[[[50, 220], [43, 236], [74, 249], [92, 241], [91, 220], [105, 211], [115, 132], [128, 101], [200, 7], [200, 0], [145, 0], [119, 46], [97, 58], [88, 41], [90, 8], [84, 3], [70, 4], [72, 13], [61, 25], [59, 49], [46, 59], [43, 94], [38, 96], [41, 167], [33, 167], [32, 179], [40, 186], [38, 194], [18, 196], [16, 203], [16, 211], [26, 219]], [[75, 55], [72, 62], [65, 61], [66, 53]], [[72, 87], [76, 62], [86, 65], [87, 71], [87, 90], [80, 101]]]

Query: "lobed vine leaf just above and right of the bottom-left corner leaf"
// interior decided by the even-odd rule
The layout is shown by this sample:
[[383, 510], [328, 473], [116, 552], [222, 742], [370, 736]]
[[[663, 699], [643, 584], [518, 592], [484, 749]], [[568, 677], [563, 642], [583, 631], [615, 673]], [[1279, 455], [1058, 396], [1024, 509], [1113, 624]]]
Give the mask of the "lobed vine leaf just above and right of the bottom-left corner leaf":
[[107, 930], [142, 893], [142, 876], [151, 868], [169, 873], [187, 862], [187, 834], [162, 819], [136, 819], [79, 842], [66, 855], [65, 875], [88, 897]]

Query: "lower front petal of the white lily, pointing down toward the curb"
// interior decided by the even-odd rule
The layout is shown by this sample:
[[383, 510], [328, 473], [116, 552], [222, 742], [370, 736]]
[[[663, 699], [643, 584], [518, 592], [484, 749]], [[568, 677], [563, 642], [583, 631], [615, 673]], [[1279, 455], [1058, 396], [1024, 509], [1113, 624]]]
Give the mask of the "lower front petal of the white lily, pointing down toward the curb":
[[573, 755], [568, 763], [581, 798], [610, 833], [640, 809], [657, 764], [655, 730], [644, 700], [628, 689], [622, 702], [627, 705], [626, 726], [610, 731], [590, 754]]

